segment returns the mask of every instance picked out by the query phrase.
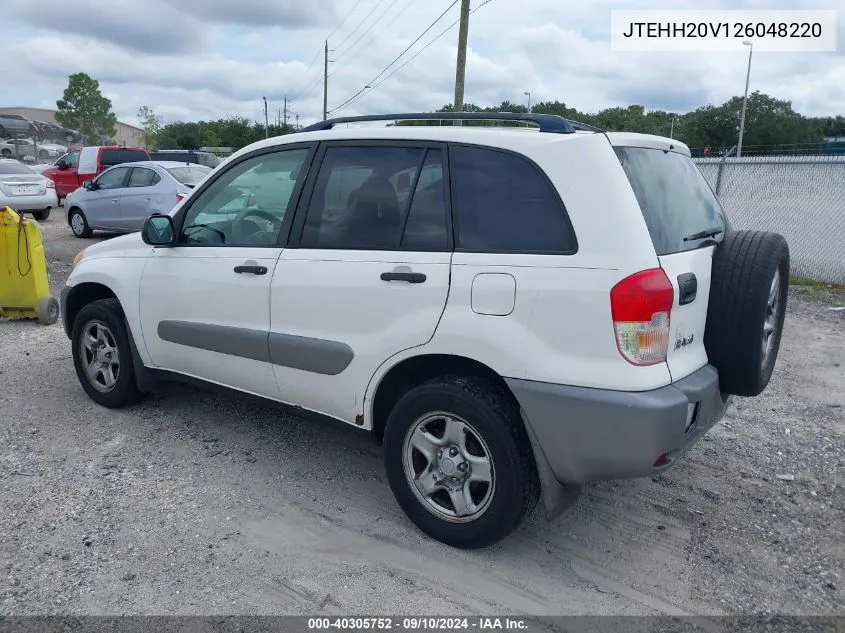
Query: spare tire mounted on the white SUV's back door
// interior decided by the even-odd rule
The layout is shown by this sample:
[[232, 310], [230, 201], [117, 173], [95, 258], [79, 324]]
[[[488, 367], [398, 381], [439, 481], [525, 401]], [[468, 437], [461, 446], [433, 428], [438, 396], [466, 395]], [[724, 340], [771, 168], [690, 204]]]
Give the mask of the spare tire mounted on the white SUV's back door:
[[[773, 289], [777, 299], [772, 310]], [[704, 334], [722, 392], [754, 397], [768, 386], [780, 350], [788, 295], [789, 245], [782, 235], [732, 231], [725, 236], [713, 255]]]

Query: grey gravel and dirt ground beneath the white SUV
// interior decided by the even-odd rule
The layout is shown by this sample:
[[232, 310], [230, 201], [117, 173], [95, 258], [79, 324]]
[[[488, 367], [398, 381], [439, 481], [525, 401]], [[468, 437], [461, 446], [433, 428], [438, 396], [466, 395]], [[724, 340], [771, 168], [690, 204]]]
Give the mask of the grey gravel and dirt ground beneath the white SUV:
[[[87, 241], [43, 228], [58, 292]], [[353, 429], [183, 386], [107, 411], [59, 324], [0, 322], [0, 614], [845, 614], [843, 301], [793, 288], [769, 389], [676, 468], [480, 552]]]

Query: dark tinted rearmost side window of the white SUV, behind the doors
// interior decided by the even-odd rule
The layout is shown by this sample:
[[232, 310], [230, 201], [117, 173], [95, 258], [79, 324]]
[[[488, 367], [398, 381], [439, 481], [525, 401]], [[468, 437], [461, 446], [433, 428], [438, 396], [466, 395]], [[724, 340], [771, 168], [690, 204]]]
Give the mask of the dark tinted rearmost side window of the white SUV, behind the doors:
[[571, 254], [566, 210], [540, 170], [515, 154], [456, 146], [452, 206], [463, 251]]

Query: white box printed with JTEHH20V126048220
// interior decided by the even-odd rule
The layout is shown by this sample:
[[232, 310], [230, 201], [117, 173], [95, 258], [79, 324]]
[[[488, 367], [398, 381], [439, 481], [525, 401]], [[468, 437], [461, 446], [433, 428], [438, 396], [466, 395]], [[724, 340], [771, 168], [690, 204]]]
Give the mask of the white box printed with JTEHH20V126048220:
[[836, 11], [611, 11], [614, 52], [836, 50]]

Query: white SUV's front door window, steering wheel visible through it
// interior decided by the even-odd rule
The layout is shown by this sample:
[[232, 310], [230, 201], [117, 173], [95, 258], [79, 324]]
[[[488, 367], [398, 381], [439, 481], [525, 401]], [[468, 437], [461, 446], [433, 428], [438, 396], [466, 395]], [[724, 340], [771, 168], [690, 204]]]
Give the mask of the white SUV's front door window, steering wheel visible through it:
[[276, 245], [309, 151], [283, 150], [232, 165], [188, 208], [180, 243]]

